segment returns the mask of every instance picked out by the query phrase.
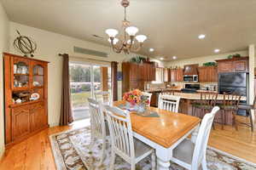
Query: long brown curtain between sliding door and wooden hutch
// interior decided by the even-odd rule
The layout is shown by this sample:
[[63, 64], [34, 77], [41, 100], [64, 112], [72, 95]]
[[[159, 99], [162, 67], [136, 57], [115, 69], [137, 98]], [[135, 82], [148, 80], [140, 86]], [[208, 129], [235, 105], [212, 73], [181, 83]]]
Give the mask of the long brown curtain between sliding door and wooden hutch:
[[62, 54], [63, 68], [62, 68], [62, 88], [61, 88], [61, 119], [60, 125], [68, 125], [73, 122], [73, 114], [70, 101], [70, 87], [69, 87], [69, 56]]

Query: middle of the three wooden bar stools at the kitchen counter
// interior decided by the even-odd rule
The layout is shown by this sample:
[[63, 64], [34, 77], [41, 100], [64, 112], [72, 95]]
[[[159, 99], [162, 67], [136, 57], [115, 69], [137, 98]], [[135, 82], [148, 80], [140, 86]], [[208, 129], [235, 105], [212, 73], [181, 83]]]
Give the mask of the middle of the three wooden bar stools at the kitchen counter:
[[238, 105], [240, 103], [241, 96], [236, 94], [226, 94], [224, 93], [224, 99], [222, 104], [218, 105], [220, 110], [223, 111], [222, 113], [222, 129], [224, 129], [224, 125], [226, 124], [226, 113], [230, 111], [232, 113], [232, 126], [236, 127], [236, 113], [238, 111]]

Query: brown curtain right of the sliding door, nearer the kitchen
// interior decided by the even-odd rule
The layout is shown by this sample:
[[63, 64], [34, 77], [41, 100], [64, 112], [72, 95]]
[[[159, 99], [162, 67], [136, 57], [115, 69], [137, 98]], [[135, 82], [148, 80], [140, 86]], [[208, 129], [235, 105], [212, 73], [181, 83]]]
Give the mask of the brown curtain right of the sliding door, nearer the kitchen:
[[113, 86], [113, 101], [116, 101], [118, 99], [117, 65], [118, 62], [111, 62], [111, 84]]

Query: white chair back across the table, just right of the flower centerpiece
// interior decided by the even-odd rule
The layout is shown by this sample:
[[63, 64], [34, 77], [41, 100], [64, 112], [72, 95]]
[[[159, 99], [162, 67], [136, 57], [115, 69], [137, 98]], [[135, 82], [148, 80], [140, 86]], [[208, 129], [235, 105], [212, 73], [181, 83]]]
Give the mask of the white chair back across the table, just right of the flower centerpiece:
[[178, 112], [180, 97], [169, 94], [160, 94], [158, 108], [166, 111]]

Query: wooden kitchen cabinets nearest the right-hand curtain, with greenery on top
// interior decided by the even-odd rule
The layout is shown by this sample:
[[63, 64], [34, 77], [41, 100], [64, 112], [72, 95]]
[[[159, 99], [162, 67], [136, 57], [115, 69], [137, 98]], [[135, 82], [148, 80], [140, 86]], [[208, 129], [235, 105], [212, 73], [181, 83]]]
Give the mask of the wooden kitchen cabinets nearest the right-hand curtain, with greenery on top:
[[152, 82], [155, 80], [154, 63], [122, 63], [122, 93], [138, 88], [144, 90], [144, 82]]

